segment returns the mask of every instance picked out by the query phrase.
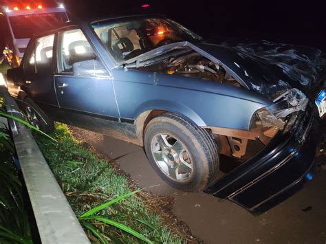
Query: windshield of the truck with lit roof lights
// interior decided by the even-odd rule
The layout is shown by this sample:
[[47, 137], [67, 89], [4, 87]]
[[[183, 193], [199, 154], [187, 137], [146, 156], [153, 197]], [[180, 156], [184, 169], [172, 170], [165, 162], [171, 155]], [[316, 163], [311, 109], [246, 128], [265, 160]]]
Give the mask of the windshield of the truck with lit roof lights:
[[67, 21], [67, 15], [64, 12], [28, 14], [10, 16], [9, 20], [14, 38], [21, 39], [59, 27]]

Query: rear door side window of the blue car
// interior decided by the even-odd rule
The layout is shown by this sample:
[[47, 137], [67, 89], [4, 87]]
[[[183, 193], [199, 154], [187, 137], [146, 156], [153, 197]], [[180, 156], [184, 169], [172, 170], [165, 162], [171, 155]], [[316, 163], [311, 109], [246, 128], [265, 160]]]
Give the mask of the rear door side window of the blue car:
[[53, 72], [53, 44], [54, 34], [36, 39], [34, 56], [30, 57], [29, 63], [35, 63], [36, 73], [50, 74]]

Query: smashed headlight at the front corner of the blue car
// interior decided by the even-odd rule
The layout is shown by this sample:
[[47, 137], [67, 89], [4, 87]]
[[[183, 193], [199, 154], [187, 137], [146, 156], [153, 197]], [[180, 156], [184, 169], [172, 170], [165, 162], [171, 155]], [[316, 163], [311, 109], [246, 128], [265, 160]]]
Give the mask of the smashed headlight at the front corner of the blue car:
[[283, 130], [287, 115], [297, 111], [305, 111], [308, 99], [302, 91], [294, 88], [281, 94], [273, 102], [274, 104], [269, 107], [259, 109], [256, 114], [263, 127], [274, 126]]

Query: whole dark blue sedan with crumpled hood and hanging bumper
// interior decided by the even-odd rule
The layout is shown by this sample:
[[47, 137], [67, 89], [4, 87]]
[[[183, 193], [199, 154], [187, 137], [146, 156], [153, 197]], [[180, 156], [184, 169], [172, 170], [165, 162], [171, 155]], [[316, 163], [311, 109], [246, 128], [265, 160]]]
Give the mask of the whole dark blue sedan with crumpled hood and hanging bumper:
[[314, 177], [325, 67], [317, 49], [216, 45], [164, 16], [124, 16], [35, 36], [8, 88], [39, 129], [138, 144], [167, 184], [259, 214]]

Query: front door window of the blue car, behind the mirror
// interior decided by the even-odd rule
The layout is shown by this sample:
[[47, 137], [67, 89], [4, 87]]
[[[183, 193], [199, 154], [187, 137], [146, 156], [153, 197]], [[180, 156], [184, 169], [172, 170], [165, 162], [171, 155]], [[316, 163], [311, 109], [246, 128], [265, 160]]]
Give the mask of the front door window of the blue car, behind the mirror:
[[109, 76], [79, 29], [59, 33], [58, 71], [74, 76]]

